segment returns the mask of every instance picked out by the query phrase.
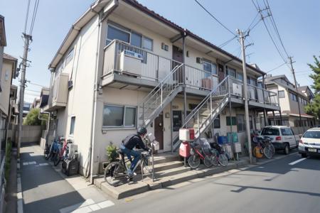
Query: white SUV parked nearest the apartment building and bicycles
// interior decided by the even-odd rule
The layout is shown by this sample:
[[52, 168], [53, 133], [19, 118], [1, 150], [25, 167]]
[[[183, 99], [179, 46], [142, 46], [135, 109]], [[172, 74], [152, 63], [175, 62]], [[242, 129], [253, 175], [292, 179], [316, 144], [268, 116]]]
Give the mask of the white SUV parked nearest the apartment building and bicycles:
[[283, 150], [286, 155], [289, 154], [290, 149], [297, 148], [299, 143], [299, 138], [294, 135], [294, 131], [289, 126], [265, 126], [261, 136], [272, 138], [274, 148]]

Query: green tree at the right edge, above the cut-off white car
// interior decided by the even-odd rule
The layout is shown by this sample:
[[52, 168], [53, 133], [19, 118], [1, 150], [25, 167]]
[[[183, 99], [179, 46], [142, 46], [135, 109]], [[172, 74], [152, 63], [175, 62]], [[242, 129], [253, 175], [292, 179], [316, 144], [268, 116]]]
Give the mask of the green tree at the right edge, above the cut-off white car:
[[[320, 59], [320, 56], [319, 56]], [[307, 114], [312, 114], [316, 119], [320, 119], [320, 61], [314, 55], [314, 65], [308, 64], [314, 74], [309, 75], [314, 84], [311, 85], [311, 88], [314, 89], [314, 99], [313, 101], [306, 105], [305, 110]]]

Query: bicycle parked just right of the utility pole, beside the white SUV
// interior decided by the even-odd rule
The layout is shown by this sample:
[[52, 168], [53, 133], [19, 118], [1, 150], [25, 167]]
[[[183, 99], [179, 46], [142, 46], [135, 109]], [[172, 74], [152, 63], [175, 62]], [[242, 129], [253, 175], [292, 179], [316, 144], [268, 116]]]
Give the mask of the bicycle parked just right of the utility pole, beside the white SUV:
[[272, 145], [272, 138], [269, 137], [257, 137], [255, 136], [252, 140], [257, 143], [255, 148], [253, 148], [253, 154], [256, 158], [262, 158], [265, 155], [266, 158], [272, 158], [275, 153], [275, 148]]

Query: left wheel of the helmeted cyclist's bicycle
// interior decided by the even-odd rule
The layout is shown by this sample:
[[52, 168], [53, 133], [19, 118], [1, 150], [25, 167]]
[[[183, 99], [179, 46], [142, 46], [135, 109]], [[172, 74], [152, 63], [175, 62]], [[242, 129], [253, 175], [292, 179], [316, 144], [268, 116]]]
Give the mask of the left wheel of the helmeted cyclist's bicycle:
[[112, 162], [105, 168], [105, 173], [103, 177], [105, 178], [105, 182], [109, 185], [115, 186], [121, 182], [121, 177], [126, 177], [125, 169], [123, 168], [122, 164], [119, 162]]

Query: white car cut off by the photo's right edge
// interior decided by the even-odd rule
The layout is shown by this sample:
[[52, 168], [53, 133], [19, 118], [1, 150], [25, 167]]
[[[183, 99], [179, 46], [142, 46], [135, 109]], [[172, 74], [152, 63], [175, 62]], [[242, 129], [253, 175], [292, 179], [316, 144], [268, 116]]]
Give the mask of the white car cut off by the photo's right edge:
[[308, 129], [299, 141], [299, 153], [302, 158], [308, 155], [320, 156], [320, 128]]

